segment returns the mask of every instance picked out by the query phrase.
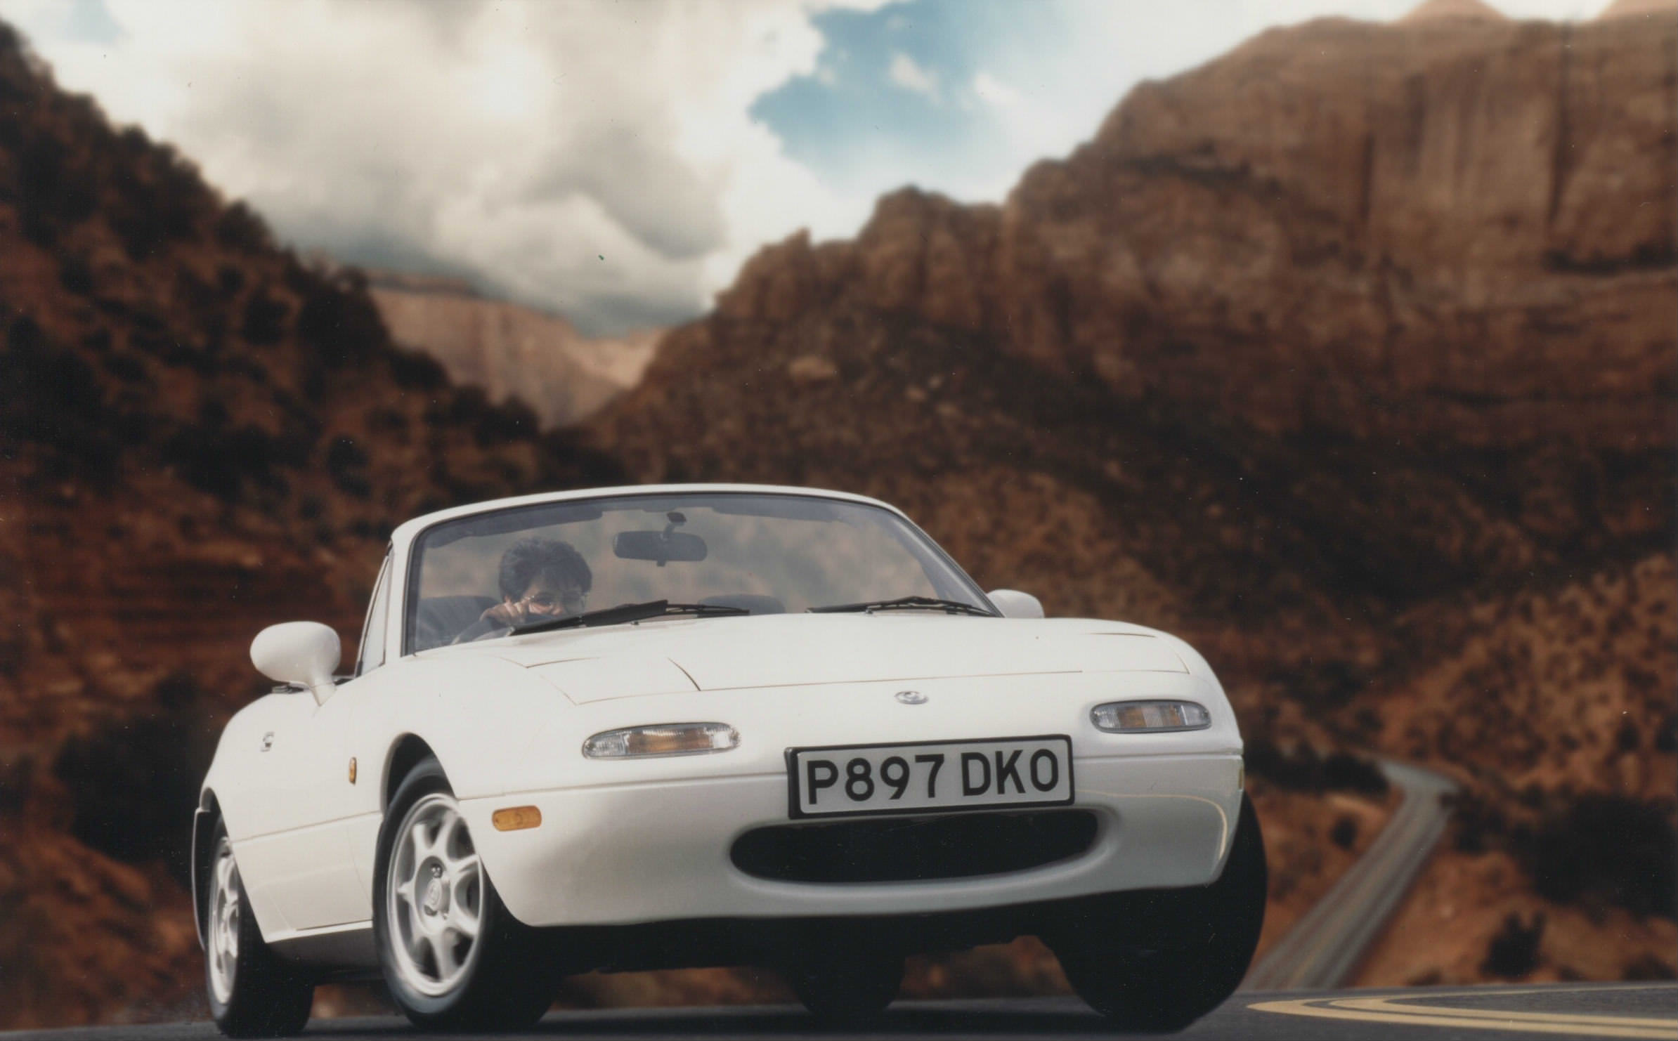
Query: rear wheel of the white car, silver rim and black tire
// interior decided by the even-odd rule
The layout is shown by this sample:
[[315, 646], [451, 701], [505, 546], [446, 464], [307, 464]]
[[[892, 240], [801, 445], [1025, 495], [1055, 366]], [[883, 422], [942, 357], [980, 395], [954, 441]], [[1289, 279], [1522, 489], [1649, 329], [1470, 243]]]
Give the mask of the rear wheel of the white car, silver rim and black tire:
[[[233, 862], [233, 847], [220, 821], [210, 850], [203, 909], [210, 1016], [228, 1038], [287, 1038], [302, 1033], [314, 1004], [314, 981], [280, 961], [263, 942]], [[223, 870], [230, 873], [223, 875]]]

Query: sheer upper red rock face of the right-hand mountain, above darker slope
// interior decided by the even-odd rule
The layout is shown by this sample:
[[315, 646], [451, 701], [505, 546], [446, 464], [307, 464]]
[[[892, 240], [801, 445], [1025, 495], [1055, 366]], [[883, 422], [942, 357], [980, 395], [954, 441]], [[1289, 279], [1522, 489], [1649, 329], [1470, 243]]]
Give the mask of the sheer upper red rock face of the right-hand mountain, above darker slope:
[[1143, 84], [1000, 210], [745, 267], [1284, 432], [1634, 449], [1673, 412], [1678, 20], [1321, 20]]

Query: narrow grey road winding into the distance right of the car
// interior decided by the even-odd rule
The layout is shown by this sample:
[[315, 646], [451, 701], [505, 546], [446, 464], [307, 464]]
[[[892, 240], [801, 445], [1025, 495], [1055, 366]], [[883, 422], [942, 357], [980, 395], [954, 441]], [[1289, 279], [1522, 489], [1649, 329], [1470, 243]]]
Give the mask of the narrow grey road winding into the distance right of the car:
[[1381, 769], [1404, 793], [1393, 820], [1322, 900], [1247, 972], [1243, 991], [1342, 986], [1410, 892], [1445, 835], [1450, 811], [1440, 796], [1455, 791], [1457, 785], [1418, 766], [1383, 763]]

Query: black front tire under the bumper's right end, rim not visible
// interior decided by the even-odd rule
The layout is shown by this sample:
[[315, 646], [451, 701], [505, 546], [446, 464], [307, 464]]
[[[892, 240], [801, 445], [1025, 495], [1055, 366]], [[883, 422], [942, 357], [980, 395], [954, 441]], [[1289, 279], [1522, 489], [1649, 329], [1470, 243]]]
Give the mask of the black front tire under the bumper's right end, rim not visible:
[[[1175, 1033], [1240, 986], [1258, 947], [1267, 882], [1264, 833], [1243, 795], [1217, 882], [1158, 893], [1151, 904], [1097, 904], [1074, 927], [1047, 937], [1049, 945], [1092, 1009], [1123, 1029]], [[1139, 939], [1136, 924], [1149, 917], [1154, 935]]]

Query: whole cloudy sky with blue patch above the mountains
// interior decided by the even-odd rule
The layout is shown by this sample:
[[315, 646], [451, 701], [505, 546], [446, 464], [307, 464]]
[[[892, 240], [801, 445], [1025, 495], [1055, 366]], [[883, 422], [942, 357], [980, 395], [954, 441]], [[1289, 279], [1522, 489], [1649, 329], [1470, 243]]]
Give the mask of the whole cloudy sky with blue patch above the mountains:
[[[1002, 201], [1139, 80], [1416, 0], [0, 0], [117, 124], [282, 241], [589, 334], [710, 308], [903, 184]], [[1493, 0], [1584, 20], [1608, 0]]]

